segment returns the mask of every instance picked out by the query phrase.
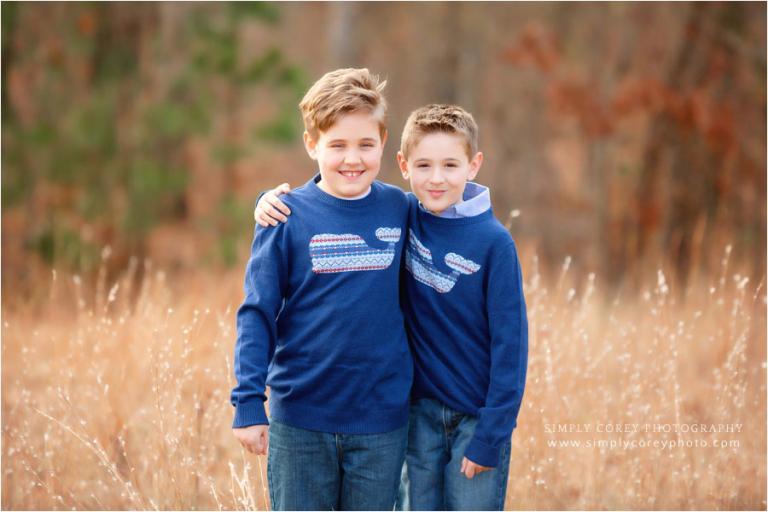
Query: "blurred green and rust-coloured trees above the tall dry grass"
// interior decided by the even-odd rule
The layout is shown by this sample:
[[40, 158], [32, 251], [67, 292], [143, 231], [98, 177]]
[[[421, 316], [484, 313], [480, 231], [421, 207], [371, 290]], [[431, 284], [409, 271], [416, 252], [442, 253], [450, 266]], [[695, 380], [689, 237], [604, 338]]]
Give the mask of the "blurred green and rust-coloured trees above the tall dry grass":
[[296, 104], [338, 67], [387, 80], [398, 186], [412, 109], [473, 112], [478, 181], [545, 269], [684, 286], [731, 245], [763, 276], [765, 9], [4, 2], [3, 291], [91, 273], [105, 247], [110, 272], [241, 267], [258, 192], [313, 172]]

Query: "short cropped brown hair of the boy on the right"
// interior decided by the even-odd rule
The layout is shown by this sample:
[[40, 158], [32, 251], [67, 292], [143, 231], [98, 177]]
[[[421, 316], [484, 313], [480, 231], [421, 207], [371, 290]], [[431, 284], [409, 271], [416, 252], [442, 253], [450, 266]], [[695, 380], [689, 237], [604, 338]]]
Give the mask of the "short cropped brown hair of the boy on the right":
[[472, 114], [457, 105], [431, 104], [411, 112], [403, 128], [400, 151], [405, 158], [430, 133], [451, 133], [464, 139], [467, 158], [477, 154], [478, 128]]

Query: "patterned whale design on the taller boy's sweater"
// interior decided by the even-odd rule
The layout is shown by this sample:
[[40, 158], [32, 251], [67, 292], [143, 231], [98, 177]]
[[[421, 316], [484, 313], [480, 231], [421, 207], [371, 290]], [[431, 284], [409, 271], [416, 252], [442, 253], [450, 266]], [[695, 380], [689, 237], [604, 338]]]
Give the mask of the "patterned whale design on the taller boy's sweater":
[[376, 238], [387, 242], [386, 249], [370, 247], [359, 235], [323, 233], [309, 241], [309, 257], [316, 274], [384, 270], [395, 259], [395, 244], [400, 240], [400, 228], [381, 227]]

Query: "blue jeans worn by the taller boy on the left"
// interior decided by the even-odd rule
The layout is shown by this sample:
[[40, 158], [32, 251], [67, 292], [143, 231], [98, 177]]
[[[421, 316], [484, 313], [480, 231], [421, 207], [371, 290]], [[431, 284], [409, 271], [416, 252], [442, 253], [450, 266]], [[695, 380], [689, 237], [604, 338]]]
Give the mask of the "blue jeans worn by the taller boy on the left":
[[392, 510], [408, 427], [330, 434], [271, 420], [267, 479], [272, 510]]

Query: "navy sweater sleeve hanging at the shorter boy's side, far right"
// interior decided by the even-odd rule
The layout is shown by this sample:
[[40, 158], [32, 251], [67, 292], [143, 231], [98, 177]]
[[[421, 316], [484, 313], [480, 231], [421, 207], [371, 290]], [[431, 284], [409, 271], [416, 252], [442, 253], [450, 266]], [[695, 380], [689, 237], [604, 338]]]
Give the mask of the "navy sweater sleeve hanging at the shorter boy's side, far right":
[[486, 293], [490, 379], [465, 456], [476, 464], [496, 467], [500, 448], [517, 426], [528, 367], [528, 319], [514, 242], [492, 254]]

